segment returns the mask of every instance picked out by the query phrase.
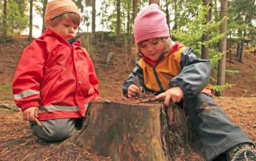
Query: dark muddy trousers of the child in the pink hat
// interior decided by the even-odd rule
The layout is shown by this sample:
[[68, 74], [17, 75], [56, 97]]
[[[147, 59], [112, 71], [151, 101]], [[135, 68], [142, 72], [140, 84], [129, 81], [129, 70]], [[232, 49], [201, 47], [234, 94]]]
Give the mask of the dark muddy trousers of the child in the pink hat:
[[185, 102], [186, 114], [207, 160], [212, 161], [237, 144], [252, 141], [234, 124], [211, 96], [199, 93]]

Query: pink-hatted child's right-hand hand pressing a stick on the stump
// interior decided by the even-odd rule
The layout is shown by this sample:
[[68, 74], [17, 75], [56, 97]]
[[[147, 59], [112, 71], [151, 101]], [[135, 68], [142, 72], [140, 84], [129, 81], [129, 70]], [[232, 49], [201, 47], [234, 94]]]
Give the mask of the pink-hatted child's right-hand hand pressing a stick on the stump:
[[160, 99], [165, 97], [164, 105], [169, 106], [169, 101], [172, 102], [180, 102], [180, 99], [184, 96], [183, 90], [180, 87], [173, 87], [166, 92], [159, 94], [156, 96], [156, 99]]

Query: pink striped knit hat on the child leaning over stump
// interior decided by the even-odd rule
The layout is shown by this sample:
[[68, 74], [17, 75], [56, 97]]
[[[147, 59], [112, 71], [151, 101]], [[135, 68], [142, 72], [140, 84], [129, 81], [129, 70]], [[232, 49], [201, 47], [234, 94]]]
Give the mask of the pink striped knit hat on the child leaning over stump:
[[138, 45], [144, 40], [170, 37], [166, 14], [152, 3], [134, 19], [134, 37]]

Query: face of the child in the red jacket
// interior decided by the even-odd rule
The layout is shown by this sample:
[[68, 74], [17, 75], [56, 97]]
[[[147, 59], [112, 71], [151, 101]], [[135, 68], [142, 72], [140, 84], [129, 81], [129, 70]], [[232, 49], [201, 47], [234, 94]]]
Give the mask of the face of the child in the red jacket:
[[65, 40], [70, 40], [73, 37], [76, 37], [78, 25], [74, 24], [72, 21], [68, 20], [67, 18], [64, 18], [61, 20], [60, 23], [58, 23], [58, 25], [56, 25], [55, 27], [49, 27], [49, 28], [52, 29], [52, 31], [55, 31]]

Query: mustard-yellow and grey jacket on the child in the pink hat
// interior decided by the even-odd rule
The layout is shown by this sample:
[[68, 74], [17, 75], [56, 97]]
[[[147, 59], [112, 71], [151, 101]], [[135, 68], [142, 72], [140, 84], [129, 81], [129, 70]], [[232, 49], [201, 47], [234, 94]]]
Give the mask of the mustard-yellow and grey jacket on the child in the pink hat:
[[192, 48], [180, 46], [175, 51], [169, 51], [169, 54], [155, 66], [143, 58], [136, 62], [134, 70], [123, 83], [124, 96], [128, 97], [128, 87], [134, 84], [136, 75], [143, 90], [156, 95], [177, 86], [183, 90], [185, 99], [200, 92], [210, 94], [208, 82], [211, 62], [197, 59]]

